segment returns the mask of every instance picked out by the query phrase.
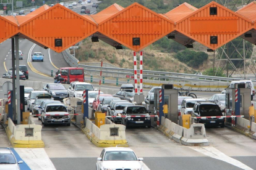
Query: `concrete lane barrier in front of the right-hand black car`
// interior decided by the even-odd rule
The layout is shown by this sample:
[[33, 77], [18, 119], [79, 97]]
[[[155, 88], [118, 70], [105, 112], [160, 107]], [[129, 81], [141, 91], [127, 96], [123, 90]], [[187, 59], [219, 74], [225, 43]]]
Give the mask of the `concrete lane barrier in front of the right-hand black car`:
[[187, 146], [208, 146], [204, 124], [194, 123], [189, 129], [162, 117], [158, 129], [174, 141]]

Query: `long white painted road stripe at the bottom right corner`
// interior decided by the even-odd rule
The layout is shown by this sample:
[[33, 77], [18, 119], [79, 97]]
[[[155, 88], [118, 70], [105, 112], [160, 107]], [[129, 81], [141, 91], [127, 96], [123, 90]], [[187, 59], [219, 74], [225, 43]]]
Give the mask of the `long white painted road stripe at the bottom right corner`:
[[231, 158], [224, 153], [217, 150], [215, 147], [190, 147], [193, 150], [203, 153], [204, 155], [210, 156], [211, 158], [215, 158], [216, 160], [221, 160], [229, 164], [233, 164], [241, 169], [253, 170], [246, 164], [241, 163], [241, 161], [237, 161], [234, 158]]

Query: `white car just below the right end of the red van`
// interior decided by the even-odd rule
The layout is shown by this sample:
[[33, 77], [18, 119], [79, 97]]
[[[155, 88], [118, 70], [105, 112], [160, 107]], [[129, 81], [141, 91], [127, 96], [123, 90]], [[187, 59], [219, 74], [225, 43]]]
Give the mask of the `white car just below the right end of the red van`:
[[67, 89], [69, 97], [83, 97], [83, 91], [96, 91], [97, 89], [93, 88], [93, 85], [85, 82], [72, 82]]

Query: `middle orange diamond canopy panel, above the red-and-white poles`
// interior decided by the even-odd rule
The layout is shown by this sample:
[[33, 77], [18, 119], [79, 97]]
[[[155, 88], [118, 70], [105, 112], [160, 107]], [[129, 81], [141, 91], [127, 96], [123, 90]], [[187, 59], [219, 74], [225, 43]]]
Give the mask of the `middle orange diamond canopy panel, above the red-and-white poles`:
[[140, 51], [174, 30], [174, 23], [135, 2], [101, 22], [98, 31], [116, 42]]

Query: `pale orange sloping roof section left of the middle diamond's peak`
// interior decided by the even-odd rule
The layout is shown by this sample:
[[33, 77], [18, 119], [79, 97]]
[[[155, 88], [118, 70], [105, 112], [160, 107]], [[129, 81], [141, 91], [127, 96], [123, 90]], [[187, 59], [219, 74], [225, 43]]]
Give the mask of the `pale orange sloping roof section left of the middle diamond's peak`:
[[92, 17], [96, 23], [100, 24], [107, 18], [113, 16], [114, 14], [116, 14], [117, 12], [119, 12], [123, 9], [124, 9], [124, 7], [121, 7], [118, 4], [113, 4], [112, 6], [109, 6], [106, 9], [101, 10], [101, 12], [99, 12], [98, 14], [90, 15], [90, 17]]

